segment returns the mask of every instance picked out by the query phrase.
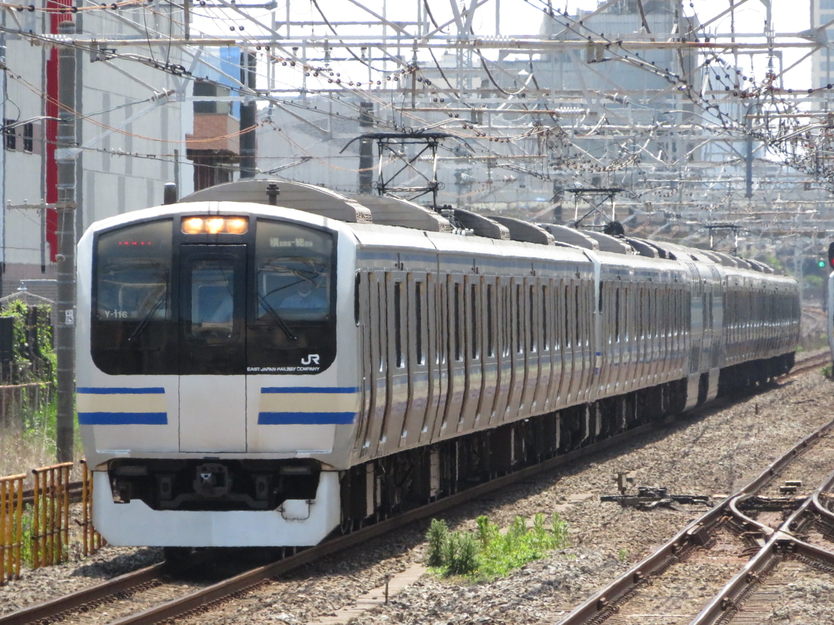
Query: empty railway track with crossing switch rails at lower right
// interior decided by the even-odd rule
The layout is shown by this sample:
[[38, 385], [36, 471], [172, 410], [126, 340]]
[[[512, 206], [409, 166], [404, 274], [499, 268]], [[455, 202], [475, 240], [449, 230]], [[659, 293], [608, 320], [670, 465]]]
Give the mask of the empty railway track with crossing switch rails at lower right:
[[[830, 580], [832, 430], [834, 421], [802, 439], [559, 624], [713, 625], [736, 615], [739, 622], [765, 622], [784, 604], [788, 582], [818, 573]], [[681, 595], [679, 581], [692, 575], [701, 580], [706, 600]]]

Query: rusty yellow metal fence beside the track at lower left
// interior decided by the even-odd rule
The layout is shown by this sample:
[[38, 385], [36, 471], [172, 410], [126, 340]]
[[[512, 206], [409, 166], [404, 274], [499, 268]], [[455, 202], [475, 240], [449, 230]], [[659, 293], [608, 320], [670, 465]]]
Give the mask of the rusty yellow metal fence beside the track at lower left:
[[33, 469], [31, 495], [23, 490], [25, 473], [0, 478], [0, 585], [18, 579], [24, 561], [32, 568], [66, 562], [71, 542], [80, 543], [83, 556], [103, 547], [93, 527], [92, 473], [83, 463], [76, 511], [70, 507], [78, 499], [71, 492], [72, 468], [73, 463], [60, 463]]

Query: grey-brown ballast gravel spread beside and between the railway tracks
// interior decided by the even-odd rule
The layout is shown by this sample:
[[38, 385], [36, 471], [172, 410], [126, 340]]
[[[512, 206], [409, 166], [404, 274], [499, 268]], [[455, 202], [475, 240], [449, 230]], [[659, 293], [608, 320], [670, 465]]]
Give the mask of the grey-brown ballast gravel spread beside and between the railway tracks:
[[[509, 577], [471, 583], [424, 575], [387, 604], [349, 618], [351, 625], [404, 623], [525, 625], [555, 623], [600, 585], [618, 577], [700, 516], [705, 507], [679, 506], [641, 512], [600, 502], [616, 494], [615, 475], [629, 472], [638, 486], [669, 493], [719, 498], [755, 478], [800, 438], [834, 418], [834, 383], [805, 373], [781, 385], [707, 408], [659, 428], [621, 448], [597, 453], [514, 488], [461, 507], [445, 517], [451, 529], [475, 527], [490, 517], [502, 527], [516, 515], [559, 512], [570, 546], [530, 562]], [[213, 612], [183, 622], [328, 622], [339, 608], [425, 556], [426, 526], [410, 527], [339, 558], [306, 567], [292, 577], [260, 586]], [[834, 549], [834, 546], [831, 547]], [[0, 587], [0, 615], [147, 566], [162, 558], [155, 548], [105, 547], [93, 557], [62, 566], [24, 571]], [[678, 578], [681, 597], [700, 597], [710, 587], [697, 573]], [[815, 572], [806, 582], [785, 584], [768, 623], [834, 622], [834, 575]], [[332, 621], [330, 621], [332, 622]], [[676, 622], [668, 620], [664, 622]], [[688, 622], [686, 620], [685, 622]]]

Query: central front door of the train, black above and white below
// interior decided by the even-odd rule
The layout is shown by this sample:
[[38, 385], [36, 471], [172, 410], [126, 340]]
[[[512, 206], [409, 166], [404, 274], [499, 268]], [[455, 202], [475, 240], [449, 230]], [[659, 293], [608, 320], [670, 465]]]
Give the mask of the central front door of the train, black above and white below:
[[179, 248], [179, 451], [246, 451], [246, 246]]

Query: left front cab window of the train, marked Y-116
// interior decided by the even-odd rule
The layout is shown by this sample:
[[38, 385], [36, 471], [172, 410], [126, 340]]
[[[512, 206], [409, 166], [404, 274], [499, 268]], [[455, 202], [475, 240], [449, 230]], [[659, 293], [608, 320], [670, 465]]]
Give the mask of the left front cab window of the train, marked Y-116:
[[170, 219], [98, 235], [93, 274], [93, 362], [104, 373], [176, 373]]

